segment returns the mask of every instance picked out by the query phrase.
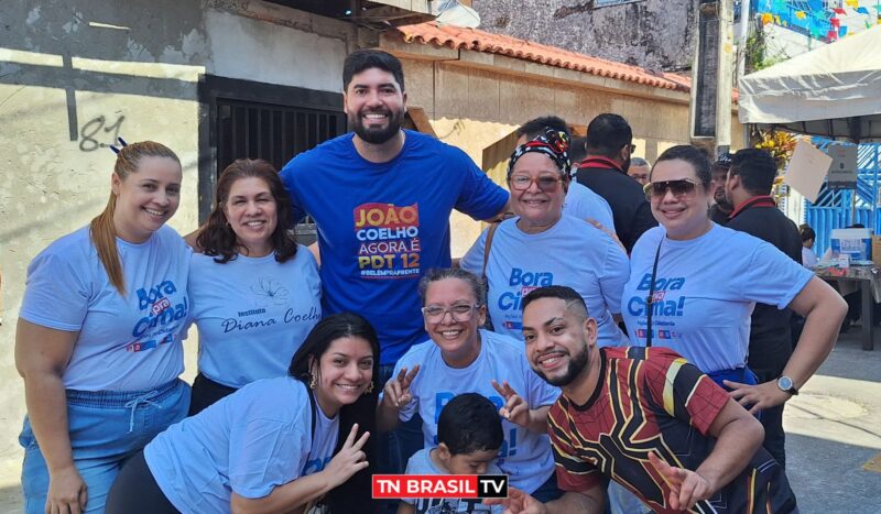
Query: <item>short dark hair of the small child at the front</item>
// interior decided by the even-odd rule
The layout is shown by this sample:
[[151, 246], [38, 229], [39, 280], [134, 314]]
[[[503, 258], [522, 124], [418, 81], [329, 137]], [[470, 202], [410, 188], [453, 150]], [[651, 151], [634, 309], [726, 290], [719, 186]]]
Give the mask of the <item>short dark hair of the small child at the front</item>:
[[477, 393], [460, 394], [450, 400], [437, 418], [437, 442], [454, 456], [475, 451], [497, 451], [504, 434], [498, 407]]

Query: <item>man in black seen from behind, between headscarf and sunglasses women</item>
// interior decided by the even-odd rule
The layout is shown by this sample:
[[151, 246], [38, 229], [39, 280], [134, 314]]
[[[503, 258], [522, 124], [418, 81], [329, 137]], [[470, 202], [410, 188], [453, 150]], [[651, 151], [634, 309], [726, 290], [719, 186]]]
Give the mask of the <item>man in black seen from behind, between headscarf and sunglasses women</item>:
[[612, 208], [614, 231], [627, 249], [642, 232], [657, 226], [642, 187], [627, 175], [633, 152], [633, 132], [618, 114], [599, 114], [587, 125], [587, 158], [578, 166], [578, 182], [606, 198]]

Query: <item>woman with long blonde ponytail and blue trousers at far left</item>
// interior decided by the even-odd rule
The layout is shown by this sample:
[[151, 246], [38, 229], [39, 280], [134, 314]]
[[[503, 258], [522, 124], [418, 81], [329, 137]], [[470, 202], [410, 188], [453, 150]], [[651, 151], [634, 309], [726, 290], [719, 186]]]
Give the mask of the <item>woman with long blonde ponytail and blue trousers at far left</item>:
[[28, 513], [104, 512], [122, 462], [186, 415], [189, 250], [165, 226], [181, 162], [160, 143], [122, 143], [104, 212], [28, 269], [15, 335]]

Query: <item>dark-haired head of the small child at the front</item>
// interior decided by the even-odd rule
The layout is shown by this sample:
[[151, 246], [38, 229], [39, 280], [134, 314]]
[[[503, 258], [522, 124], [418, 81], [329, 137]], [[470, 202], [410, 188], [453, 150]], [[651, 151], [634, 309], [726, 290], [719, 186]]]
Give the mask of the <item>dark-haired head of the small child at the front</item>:
[[483, 474], [502, 447], [496, 405], [477, 393], [450, 400], [437, 420], [437, 458], [452, 474]]

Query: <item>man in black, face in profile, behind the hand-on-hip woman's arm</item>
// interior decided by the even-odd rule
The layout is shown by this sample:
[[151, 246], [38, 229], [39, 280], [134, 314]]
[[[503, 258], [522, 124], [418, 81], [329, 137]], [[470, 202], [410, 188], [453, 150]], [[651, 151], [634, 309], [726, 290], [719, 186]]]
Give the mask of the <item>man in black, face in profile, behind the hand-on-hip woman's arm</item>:
[[[725, 184], [726, 196], [735, 206], [728, 228], [768, 241], [801, 264], [802, 238], [798, 228], [777, 209], [770, 196], [776, 172], [774, 158], [764, 150], [744, 149], [732, 155]], [[747, 362], [759, 376], [759, 383], [779, 379], [792, 354], [791, 317], [790, 309], [779, 310], [773, 305], [755, 304]], [[784, 405], [762, 411], [761, 419], [765, 434], [764, 447], [783, 467], [786, 464]]]

